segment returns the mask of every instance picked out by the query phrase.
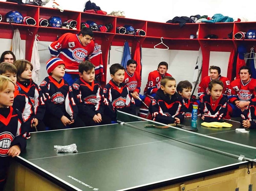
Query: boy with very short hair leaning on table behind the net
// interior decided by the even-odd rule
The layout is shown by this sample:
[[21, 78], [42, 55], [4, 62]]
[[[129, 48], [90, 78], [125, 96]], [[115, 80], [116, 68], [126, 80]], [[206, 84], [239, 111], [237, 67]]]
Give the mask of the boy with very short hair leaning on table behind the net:
[[184, 120], [183, 100], [176, 92], [176, 80], [171, 76], [161, 79], [161, 86], [149, 107], [153, 121], [170, 124]]

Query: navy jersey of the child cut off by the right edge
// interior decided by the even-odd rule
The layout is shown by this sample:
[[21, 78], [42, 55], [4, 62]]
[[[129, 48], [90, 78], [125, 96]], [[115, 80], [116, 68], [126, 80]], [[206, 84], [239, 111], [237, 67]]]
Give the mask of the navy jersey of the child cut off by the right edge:
[[251, 129], [256, 129], [256, 100], [252, 99], [249, 106], [247, 106], [243, 112], [242, 117], [248, 119], [251, 123]]

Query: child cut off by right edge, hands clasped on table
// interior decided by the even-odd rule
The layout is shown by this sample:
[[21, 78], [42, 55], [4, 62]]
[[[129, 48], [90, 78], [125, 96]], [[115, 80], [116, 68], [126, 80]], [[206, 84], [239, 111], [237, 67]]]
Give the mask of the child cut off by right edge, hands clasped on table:
[[[256, 87], [254, 87], [256, 91]], [[251, 99], [249, 106], [245, 108], [243, 113], [241, 114], [242, 117], [242, 125], [244, 128], [251, 128], [256, 129], [256, 98]]]

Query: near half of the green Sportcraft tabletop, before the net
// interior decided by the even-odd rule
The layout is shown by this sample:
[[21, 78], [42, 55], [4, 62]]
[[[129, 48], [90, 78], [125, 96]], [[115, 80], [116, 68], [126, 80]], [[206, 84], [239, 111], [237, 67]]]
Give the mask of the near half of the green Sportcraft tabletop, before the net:
[[[172, 128], [144, 128], [144, 124], [148, 123], [152, 122], [128, 124], [150, 129], [153, 133], [126, 124], [31, 133], [26, 151], [17, 160], [68, 190], [104, 191], [138, 188], [148, 190], [225, 172], [247, 163], [156, 135], [154, 132], [186, 141], [191, 139], [196, 143], [204, 142], [204, 138], [209, 139], [207, 137], [197, 139], [200, 136], [191, 136], [190, 132]], [[205, 132], [208, 130], [204, 129]], [[217, 133], [221, 129], [213, 131]], [[232, 133], [231, 129], [223, 129], [224, 131]], [[72, 143], [76, 143], [78, 153], [57, 153], [53, 148], [54, 145]], [[226, 147], [225, 143], [214, 143], [217, 147]], [[207, 140], [207, 144], [213, 143]], [[229, 147], [237, 150], [232, 146], [227, 148]]]

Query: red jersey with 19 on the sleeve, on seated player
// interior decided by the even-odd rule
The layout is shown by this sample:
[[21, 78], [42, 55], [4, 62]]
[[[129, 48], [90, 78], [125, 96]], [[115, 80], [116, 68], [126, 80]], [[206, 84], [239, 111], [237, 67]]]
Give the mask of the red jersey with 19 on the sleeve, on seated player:
[[[172, 76], [169, 73], [165, 73], [164, 76]], [[160, 81], [162, 79], [162, 77], [160, 73], [158, 72], [158, 70], [155, 70], [153, 72], [150, 72], [148, 74], [148, 83], [144, 89], [144, 94], [148, 93], [148, 94], [152, 94], [152, 93], [156, 93], [156, 91], [160, 88], [161, 84]]]

